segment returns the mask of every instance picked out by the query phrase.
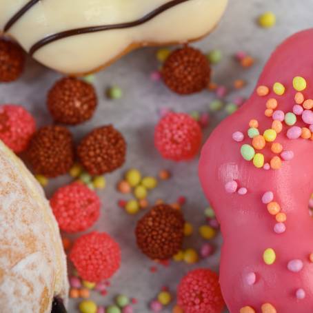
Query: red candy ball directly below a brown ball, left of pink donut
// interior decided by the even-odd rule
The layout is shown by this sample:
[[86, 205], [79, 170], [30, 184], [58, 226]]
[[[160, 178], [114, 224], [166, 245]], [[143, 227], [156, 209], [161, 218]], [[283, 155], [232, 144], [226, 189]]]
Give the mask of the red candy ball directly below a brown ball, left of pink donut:
[[170, 112], [156, 125], [154, 144], [163, 158], [174, 161], [192, 159], [199, 151], [201, 128], [185, 113]]

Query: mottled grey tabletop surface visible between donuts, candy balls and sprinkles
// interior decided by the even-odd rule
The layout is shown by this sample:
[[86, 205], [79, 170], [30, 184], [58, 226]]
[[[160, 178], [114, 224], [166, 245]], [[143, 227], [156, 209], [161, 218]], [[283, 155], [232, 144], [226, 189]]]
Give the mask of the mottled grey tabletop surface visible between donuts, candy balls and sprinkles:
[[[218, 0], [216, 0], [218, 1]], [[266, 10], [276, 13], [277, 23], [274, 28], [264, 30], [256, 26], [256, 18]], [[230, 0], [227, 12], [221, 24], [203, 41], [194, 44], [203, 51], [219, 48], [222, 50], [223, 61], [214, 66], [213, 80], [232, 87], [234, 79], [247, 79], [248, 85], [239, 92], [232, 92], [227, 99], [231, 101], [237, 94], [248, 97], [263, 65], [275, 46], [290, 34], [312, 26], [312, 0]], [[241, 68], [233, 59], [237, 50], [245, 50], [256, 58], [256, 65], [249, 70]], [[202, 92], [191, 97], [179, 97], [167, 90], [162, 83], [150, 81], [149, 75], [157, 67], [154, 57], [156, 49], [145, 48], [132, 52], [127, 57], [117, 61], [105, 71], [97, 74], [95, 85], [99, 94], [99, 107], [92, 121], [72, 128], [78, 140], [94, 126], [113, 123], [121, 130], [128, 141], [127, 163], [114, 174], [106, 175], [108, 187], [100, 191], [103, 201], [102, 216], [92, 229], [110, 233], [121, 244], [121, 270], [111, 280], [108, 296], [101, 297], [93, 294], [93, 298], [101, 305], [112, 303], [114, 295], [124, 293], [138, 299], [134, 312], [149, 312], [148, 302], [159, 292], [163, 285], [170, 287], [174, 294], [176, 285], [181, 277], [196, 267], [210, 267], [218, 270], [219, 253], [209, 259], [194, 265], [172, 263], [170, 267], [159, 267], [159, 272], [152, 274], [149, 267], [154, 265], [143, 256], [135, 245], [133, 230], [137, 219], [143, 214], [129, 216], [117, 207], [117, 200], [123, 198], [115, 190], [117, 181], [125, 169], [139, 168], [143, 174], [156, 174], [161, 168], [169, 168], [173, 177], [163, 181], [159, 188], [150, 193], [150, 202], [162, 198], [168, 202], [176, 201], [181, 194], [187, 196], [188, 203], [183, 207], [187, 221], [195, 227], [204, 222], [203, 210], [207, 206], [201, 192], [196, 174], [197, 160], [188, 163], [173, 163], [164, 161], [154, 149], [153, 130], [158, 121], [158, 110], [170, 107], [177, 111], [190, 112], [208, 111], [208, 104], [214, 99], [214, 94]], [[46, 110], [46, 91], [59, 77], [59, 74], [43, 68], [38, 63], [28, 60], [26, 72], [16, 83], [0, 85], [0, 103], [20, 103], [25, 105], [36, 117], [39, 125], [51, 123]], [[123, 99], [109, 101], [105, 99], [105, 88], [117, 84], [124, 92]], [[225, 114], [211, 114], [210, 129]], [[46, 188], [47, 195], [69, 181], [61, 177], [50, 181]], [[199, 248], [203, 241], [197, 232], [185, 240], [185, 248]], [[221, 238], [214, 239], [217, 246]], [[174, 303], [174, 301], [173, 301]], [[77, 303], [71, 301], [70, 312], [77, 312]], [[163, 312], [170, 312], [167, 308]]]

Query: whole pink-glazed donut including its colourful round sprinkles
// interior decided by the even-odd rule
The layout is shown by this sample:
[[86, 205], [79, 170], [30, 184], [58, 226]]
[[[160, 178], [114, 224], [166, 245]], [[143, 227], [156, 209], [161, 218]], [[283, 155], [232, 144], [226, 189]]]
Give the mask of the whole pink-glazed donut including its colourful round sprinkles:
[[[221, 223], [232, 313], [313, 310], [313, 29], [272, 54], [250, 99], [203, 146], [199, 177]], [[311, 154], [312, 153], [312, 154]]]

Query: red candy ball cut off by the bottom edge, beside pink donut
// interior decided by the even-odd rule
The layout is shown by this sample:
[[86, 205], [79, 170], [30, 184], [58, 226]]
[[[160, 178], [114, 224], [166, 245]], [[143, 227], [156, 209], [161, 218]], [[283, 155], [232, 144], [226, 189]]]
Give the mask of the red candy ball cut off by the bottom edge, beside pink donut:
[[179, 283], [178, 303], [185, 313], [220, 313], [224, 301], [219, 276], [208, 270], [189, 272]]

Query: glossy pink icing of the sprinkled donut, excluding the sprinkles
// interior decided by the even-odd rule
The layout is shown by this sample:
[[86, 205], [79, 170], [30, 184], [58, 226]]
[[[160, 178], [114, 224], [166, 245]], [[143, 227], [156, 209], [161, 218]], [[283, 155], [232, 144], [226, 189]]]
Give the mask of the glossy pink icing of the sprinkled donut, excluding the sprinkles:
[[[286, 86], [285, 94], [277, 97], [278, 108], [283, 112], [290, 112], [294, 105], [296, 91], [292, 88], [292, 79], [295, 76], [305, 78], [307, 88], [303, 94], [307, 99], [313, 97], [312, 38], [313, 30], [305, 30], [282, 43], [267, 62], [257, 84], [271, 87], [279, 81]], [[201, 152], [199, 177], [223, 234], [220, 283], [231, 313], [238, 313], [247, 305], [259, 313], [263, 303], [271, 303], [278, 313], [313, 312], [313, 263], [309, 260], [313, 250], [313, 219], [307, 210], [313, 191], [310, 157], [313, 143], [310, 139], [288, 139], [286, 133], [290, 127], [283, 123], [277, 139], [286, 152], [294, 152], [294, 157], [283, 161], [279, 170], [265, 171], [255, 168], [240, 154], [241, 145], [251, 143], [251, 139], [245, 138], [242, 143], [232, 140], [237, 130], [248, 130], [251, 119], [259, 121], [260, 132], [271, 128], [272, 119], [264, 114], [265, 101], [271, 97], [276, 97], [272, 91], [265, 97], [254, 92], [212, 132]], [[296, 125], [307, 127], [301, 119]], [[268, 150], [264, 153], [268, 162], [272, 154]], [[249, 193], [245, 196], [226, 193], [225, 183], [234, 180], [248, 188]], [[285, 232], [274, 231], [275, 217], [261, 201], [268, 190], [287, 215], [283, 223]], [[276, 226], [276, 230], [282, 229], [282, 225]], [[276, 254], [272, 265], [263, 261], [267, 248]], [[291, 268], [301, 268], [299, 272], [288, 270], [289, 262], [294, 260], [297, 261]], [[252, 272], [257, 273], [257, 280], [249, 285], [247, 275]]]

